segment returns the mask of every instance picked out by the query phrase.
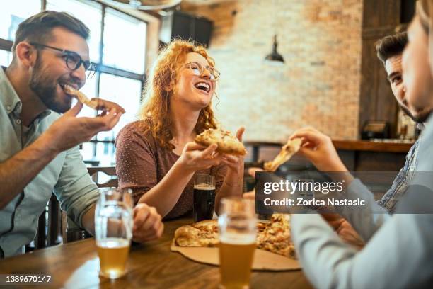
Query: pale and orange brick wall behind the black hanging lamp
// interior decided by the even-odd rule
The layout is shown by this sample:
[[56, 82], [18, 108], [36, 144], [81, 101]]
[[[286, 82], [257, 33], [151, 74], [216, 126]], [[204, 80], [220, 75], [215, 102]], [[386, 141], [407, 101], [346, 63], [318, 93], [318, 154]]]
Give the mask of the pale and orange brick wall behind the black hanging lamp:
[[[184, 0], [214, 21], [209, 52], [221, 72], [215, 107], [246, 140], [283, 141], [311, 125], [335, 138], [358, 133], [362, 0]], [[264, 61], [278, 34], [286, 61]]]

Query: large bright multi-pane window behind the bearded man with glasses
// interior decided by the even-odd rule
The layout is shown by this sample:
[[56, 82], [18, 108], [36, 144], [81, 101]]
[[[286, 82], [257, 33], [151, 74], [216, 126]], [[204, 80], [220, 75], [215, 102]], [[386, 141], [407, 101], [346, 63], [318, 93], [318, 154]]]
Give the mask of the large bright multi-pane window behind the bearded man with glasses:
[[[0, 65], [8, 66], [11, 62], [12, 53], [9, 51], [18, 24], [38, 13], [41, 3], [45, 3], [47, 10], [65, 11], [79, 18], [91, 30], [88, 39], [90, 57], [98, 69], [93, 78], [86, 80], [81, 91], [90, 97], [100, 96], [115, 101], [125, 108], [126, 113], [113, 130], [100, 132], [91, 142], [84, 143], [81, 154], [85, 162], [112, 166], [115, 162], [115, 137], [127, 123], [136, 119], [138, 113], [144, 84], [146, 22], [92, 0], [10, 2], [0, 10]], [[95, 115], [96, 112], [86, 106], [79, 114]]]

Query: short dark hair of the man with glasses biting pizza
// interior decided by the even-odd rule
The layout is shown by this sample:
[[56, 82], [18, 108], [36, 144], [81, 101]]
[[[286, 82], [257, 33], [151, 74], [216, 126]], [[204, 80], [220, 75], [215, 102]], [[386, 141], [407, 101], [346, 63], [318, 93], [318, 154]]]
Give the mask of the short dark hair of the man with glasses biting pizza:
[[12, 52], [15, 59], [15, 48], [19, 42], [24, 40], [28, 42], [38, 42], [45, 44], [52, 37], [52, 30], [57, 27], [63, 27], [67, 30], [80, 35], [82, 38], [88, 38], [90, 30], [79, 19], [65, 12], [42, 11], [30, 18], [25, 19], [18, 25], [16, 30], [15, 41], [13, 42]]

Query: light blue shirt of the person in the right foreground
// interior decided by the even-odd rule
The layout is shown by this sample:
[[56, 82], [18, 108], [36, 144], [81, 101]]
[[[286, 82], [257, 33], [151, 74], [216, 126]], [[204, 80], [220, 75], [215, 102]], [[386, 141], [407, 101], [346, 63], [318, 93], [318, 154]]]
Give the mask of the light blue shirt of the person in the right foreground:
[[[433, 117], [427, 123], [419, 156], [417, 171], [433, 174]], [[433, 178], [418, 182], [415, 174], [414, 183], [433, 188]], [[320, 215], [292, 215], [292, 239], [311, 283], [316, 288], [431, 288], [433, 215], [388, 215], [359, 180], [350, 184], [347, 198], [366, 200], [363, 209], [340, 212], [366, 241], [361, 251], [342, 242]], [[397, 211], [410, 200], [420, 201], [417, 198], [417, 191], [409, 191]], [[420, 203], [433, 208], [432, 198]]]

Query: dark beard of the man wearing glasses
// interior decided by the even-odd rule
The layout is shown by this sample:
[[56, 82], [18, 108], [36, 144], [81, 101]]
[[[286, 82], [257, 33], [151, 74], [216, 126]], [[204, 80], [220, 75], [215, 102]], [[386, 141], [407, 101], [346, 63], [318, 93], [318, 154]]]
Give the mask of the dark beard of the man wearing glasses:
[[[65, 79], [66, 80], [66, 79]], [[65, 113], [71, 108], [71, 99], [64, 99], [57, 94], [57, 84], [59, 79], [51, 79], [50, 74], [42, 69], [40, 58], [38, 57], [30, 76], [30, 89], [40, 98], [48, 109], [57, 113]]]

